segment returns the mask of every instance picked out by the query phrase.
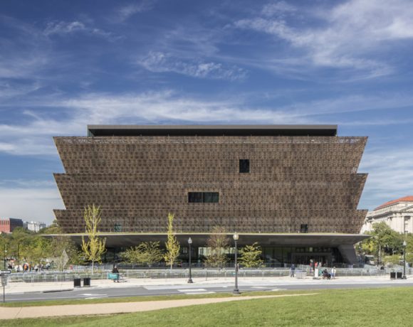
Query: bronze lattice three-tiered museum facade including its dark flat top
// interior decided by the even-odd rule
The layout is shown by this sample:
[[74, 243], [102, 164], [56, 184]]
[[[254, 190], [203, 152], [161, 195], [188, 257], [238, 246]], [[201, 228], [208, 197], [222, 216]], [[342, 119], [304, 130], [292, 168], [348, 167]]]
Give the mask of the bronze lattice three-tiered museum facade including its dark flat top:
[[[168, 128], [55, 137], [66, 171], [55, 174], [63, 230], [83, 232], [83, 209], [94, 203], [102, 232], [165, 232], [168, 212], [178, 232], [360, 232], [367, 174], [357, 168], [367, 137], [337, 136], [334, 127]], [[189, 202], [200, 193], [206, 203]]]

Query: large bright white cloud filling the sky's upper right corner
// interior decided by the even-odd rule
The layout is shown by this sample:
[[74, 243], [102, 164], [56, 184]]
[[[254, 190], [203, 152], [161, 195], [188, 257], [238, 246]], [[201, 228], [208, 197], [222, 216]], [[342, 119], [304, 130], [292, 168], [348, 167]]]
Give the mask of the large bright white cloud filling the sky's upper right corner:
[[364, 77], [388, 75], [393, 71], [391, 64], [379, 53], [392, 50], [397, 41], [413, 38], [412, 1], [352, 0], [333, 9], [318, 8], [305, 12], [308, 20], [318, 20], [317, 26], [307, 27], [294, 26], [281, 16], [268, 17], [278, 7], [267, 5], [261, 17], [241, 19], [234, 26], [287, 41], [303, 51], [296, 54], [303, 66], [351, 68], [367, 72]]

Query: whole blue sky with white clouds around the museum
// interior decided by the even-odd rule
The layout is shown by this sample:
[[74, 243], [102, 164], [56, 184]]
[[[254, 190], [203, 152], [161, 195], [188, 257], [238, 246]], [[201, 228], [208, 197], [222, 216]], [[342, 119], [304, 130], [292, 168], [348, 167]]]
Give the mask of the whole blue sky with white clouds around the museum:
[[413, 194], [413, 2], [2, 1], [0, 216], [63, 208], [87, 124], [338, 124], [360, 208]]

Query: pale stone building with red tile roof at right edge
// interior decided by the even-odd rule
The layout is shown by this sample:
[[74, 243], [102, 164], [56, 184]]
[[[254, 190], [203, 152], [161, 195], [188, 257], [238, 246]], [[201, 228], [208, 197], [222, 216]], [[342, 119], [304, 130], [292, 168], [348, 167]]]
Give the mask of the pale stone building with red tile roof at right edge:
[[372, 230], [375, 223], [385, 222], [392, 230], [405, 233], [413, 232], [413, 195], [379, 205], [375, 210], [367, 213], [361, 232]]

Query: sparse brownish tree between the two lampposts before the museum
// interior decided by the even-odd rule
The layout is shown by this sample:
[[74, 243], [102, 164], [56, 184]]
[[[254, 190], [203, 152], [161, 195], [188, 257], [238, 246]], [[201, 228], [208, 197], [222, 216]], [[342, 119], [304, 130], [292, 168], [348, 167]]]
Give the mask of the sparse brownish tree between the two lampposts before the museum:
[[226, 230], [221, 226], [214, 226], [206, 240], [209, 254], [206, 256], [205, 264], [209, 267], [223, 267], [228, 262], [226, 252], [229, 248], [229, 239]]

